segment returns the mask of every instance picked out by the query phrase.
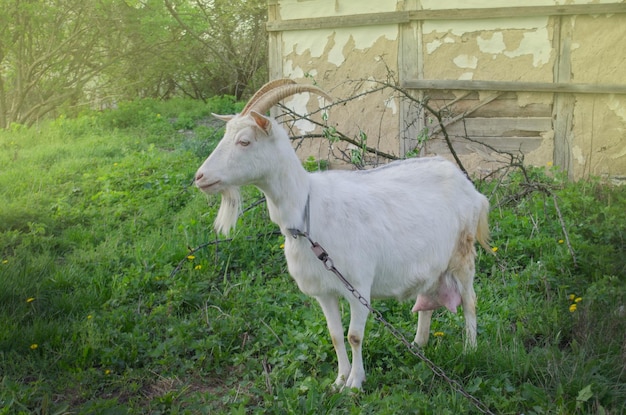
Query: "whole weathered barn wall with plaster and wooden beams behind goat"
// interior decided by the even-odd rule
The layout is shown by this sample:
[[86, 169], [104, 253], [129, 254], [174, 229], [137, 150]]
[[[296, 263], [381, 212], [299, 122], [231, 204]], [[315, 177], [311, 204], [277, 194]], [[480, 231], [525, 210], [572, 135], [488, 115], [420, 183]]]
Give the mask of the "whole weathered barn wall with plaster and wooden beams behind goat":
[[[478, 173], [497, 168], [501, 150], [572, 178], [625, 179], [626, 3], [512, 3], [270, 0], [270, 76], [316, 82], [336, 101], [380, 87], [374, 80], [396, 83], [441, 111], [455, 151]], [[320, 103], [305, 95], [285, 104], [302, 113]], [[432, 117], [392, 89], [328, 115], [317, 120], [385, 153], [419, 146], [450, 156]], [[292, 128], [320, 131], [302, 120]], [[298, 151], [332, 161], [349, 146], [307, 138]]]

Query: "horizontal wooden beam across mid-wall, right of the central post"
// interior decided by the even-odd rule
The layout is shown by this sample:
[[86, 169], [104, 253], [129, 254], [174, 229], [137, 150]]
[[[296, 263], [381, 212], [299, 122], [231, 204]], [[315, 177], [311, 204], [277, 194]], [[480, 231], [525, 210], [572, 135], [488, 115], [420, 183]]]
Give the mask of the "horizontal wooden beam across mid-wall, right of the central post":
[[465, 81], [411, 79], [401, 83], [409, 89], [443, 89], [502, 92], [556, 92], [573, 94], [626, 94], [626, 85], [576, 84], [570, 82]]

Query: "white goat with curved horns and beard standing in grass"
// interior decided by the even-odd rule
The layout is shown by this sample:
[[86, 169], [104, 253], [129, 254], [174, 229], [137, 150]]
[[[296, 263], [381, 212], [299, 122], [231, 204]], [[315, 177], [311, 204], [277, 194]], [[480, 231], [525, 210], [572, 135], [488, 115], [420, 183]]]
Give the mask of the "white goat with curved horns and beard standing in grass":
[[[286, 131], [263, 114], [290, 95], [313, 86], [291, 80], [266, 84], [238, 115], [218, 116], [226, 132], [196, 174], [196, 186], [221, 193], [215, 228], [235, 226], [239, 187], [254, 185], [267, 198], [270, 218], [285, 235], [289, 273], [302, 292], [322, 307], [338, 360], [338, 387], [361, 388], [365, 380], [361, 347], [369, 314], [291, 229], [310, 229], [336, 268], [367, 301], [415, 299], [419, 312], [415, 343], [428, 341], [433, 310], [456, 312], [462, 304], [465, 345], [476, 346], [474, 241], [488, 249], [489, 203], [451, 162], [410, 159], [367, 171], [307, 173]], [[339, 298], [350, 304], [348, 360]]]

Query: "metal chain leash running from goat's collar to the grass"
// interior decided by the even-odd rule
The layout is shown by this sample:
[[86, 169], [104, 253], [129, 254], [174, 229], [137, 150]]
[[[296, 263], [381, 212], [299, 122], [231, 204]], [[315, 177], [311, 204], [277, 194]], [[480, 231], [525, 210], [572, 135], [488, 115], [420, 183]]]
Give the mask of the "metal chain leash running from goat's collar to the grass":
[[437, 376], [439, 376], [440, 378], [442, 378], [443, 380], [445, 380], [448, 384], [450, 384], [450, 386], [452, 386], [452, 388], [460, 393], [461, 395], [463, 395], [465, 398], [467, 398], [481, 413], [483, 414], [489, 414], [489, 415], [495, 415], [493, 412], [491, 412], [491, 410], [489, 409], [489, 407], [487, 405], [485, 405], [483, 402], [481, 402], [478, 398], [476, 398], [475, 396], [471, 395], [469, 392], [467, 392], [463, 386], [456, 380], [450, 378], [442, 368], [440, 368], [439, 366], [437, 366], [435, 363], [433, 363], [432, 360], [430, 360], [429, 358], [427, 358], [417, 347], [417, 345], [413, 342], [409, 342], [407, 340], [407, 338], [400, 332], [400, 330], [398, 330], [397, 328], [395, 328], [393, 326], [393, 324], [391, 324], [390, 322], [388, 322], [382, 315], [382, 313], [380, 311], [378, 311], [377, 309], [375, 309], [374, 307], [372, 307], [372, 305], [369, 303], [369, 301], [363, 297], [356, 288], [354, 288], [354, 286], [350, 283], [350, 281], [348, 281], [346, 279], [346, 277], [343, 276], [343, 274], [341, 272], [339, 272], [339, 270], [337, 268], [335, 268], [335, 264], [333, 263], [332, 258], [328, 255], [328, 252], [326, 252], [326, 250], [317, 242], [313, 241], [313, 239], [311, 239], [311, 237], [309, 236], [308, 232], [302, 232], [298, 229], [290, 229], [289, 230], [291, 232], [291, 235], [294, 238], [297, 238], [298, 236], [304, 236], [305, 238], [307, 238], [307, 240], [309, 241], [309, 243], [311, 244], [311, 250], [313, 251], [313, 253], [315, 254], [315, 256], [322, 261], [322, 263], [324, 264], [324, 267], [332, 272], [333, 274], [335, 274], [337, 276], [337, 278], [339, 278], [339, 280], [343, 283], [343, 285], [348, 289], [348, 291], [350, 291], [352, 293], [352, 295], [359, 300], [359, 302], [361, 304], [363, 304], [363, 306], [365, 306], [370, 313], [372, 313], [374, 315], [374, 318], [381, 323], [383, 326], [385, 326], [387, 328], [387, 330], [389, 330], [389, 332], [397, 339], [400, 341], [400, 343], [402, 343], [403, 345], [406, 346], [406, 348], [409, 350], [409, 352], [411, 354], [413, 354], [414, 356], [418, 357], [420, 360], [422, 360], [424, 363], [426, 363], [426, 365], [430, 368], [430, 370]]

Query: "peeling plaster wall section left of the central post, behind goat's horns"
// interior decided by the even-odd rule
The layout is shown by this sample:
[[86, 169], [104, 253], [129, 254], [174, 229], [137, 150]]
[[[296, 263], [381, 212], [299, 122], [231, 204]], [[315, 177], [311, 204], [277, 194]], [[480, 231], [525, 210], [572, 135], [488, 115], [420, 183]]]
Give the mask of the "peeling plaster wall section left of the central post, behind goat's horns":
[[[394, 11], [395, 8], [395, 0], [359, 3], [360, 13]], [[285, 16], [299, 19], [353, 14], [354, 6], [349, 1], [283, 1], [279, 10], [283, 19]], [[388, 70], [397, 71], [397, 42], [397, 25], [286, 31], [282, 34], [282, 76], [307, 83], [311, 81], [303, 78], [312, 77], [335, 100], [341, 100], [376, 86], [367, 80], [383, 80], [387, 78]], [[285, 102], [298, 113], [316, 111], [319, 104], [306, 95]], [[363, 131], [368, 146], [397, 154], [397, 112], [398, 104], [393, 96], [371, 94], [344, 106], [333, 107], [328, 125], [352, 138]], [[292, 126], [291, 134], [306, 135], [315, 131], [315, 125], [300, 120]], [[350, 147], [335, 143], [330, 149], [327, 140], [307, 139], [298, 143], [298, 153], [302, 158], [313, 156], [334, 161], [331, 151], [337, 156], [341, 151], [349, 151]]]

